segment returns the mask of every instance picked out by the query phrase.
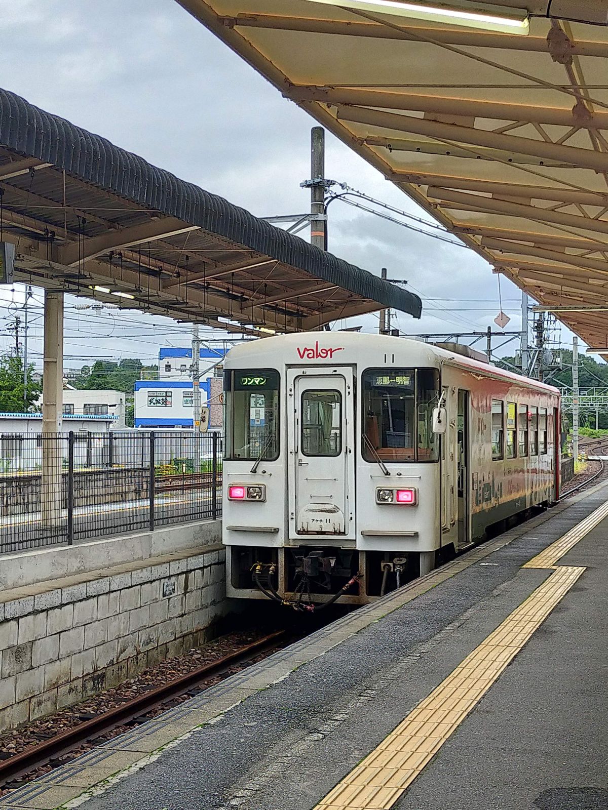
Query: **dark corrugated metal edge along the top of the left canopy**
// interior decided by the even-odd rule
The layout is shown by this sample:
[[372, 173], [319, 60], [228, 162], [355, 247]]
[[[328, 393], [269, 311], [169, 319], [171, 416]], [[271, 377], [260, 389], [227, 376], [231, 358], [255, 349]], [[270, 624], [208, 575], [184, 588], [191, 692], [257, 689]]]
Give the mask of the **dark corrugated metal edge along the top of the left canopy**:
[[383, 282], [370, 272], [2, 89], [0, 143], [19, 155], [53, 164], [79, 181], [147, 210], [199, 226], [378, 305], [420, 317], [422, 304], [413, 293]]

